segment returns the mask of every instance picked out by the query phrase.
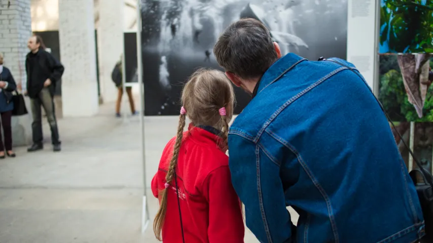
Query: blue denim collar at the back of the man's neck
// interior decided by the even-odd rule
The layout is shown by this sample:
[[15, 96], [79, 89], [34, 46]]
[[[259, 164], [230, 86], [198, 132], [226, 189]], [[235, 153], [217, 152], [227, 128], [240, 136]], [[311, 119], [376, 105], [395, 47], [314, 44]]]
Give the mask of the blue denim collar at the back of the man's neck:
[[260, 78], [259, 82], [257, 82], [254, 87], [254, 91], [252, 94], [252, 98], [254, 98], [258, 93], [268, 87], [270, 84], [274, 83], [277, 79], [279, 79], [286, 72], [290, 71], [296, 64], [307, 60], [303, 57], [300, 57], [294, 53], [289, 53], [280, 59], [278, 59], [268, 70], [263, 74]]

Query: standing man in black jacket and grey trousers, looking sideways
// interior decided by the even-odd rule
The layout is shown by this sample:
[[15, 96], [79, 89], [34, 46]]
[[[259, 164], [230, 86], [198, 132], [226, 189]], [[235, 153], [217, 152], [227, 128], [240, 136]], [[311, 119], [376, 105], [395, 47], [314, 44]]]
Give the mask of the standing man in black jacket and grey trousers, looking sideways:
[[31, 124], [33, 144], [27, 151], [43, 149], [41, 105], [47, 114], [51, 128], [51, 142], [53, 150], [60, 151], [60, 140], [57, 120], [54, 112], [54, 92], [56, 82], [60, 80], [64, 67], [50, 53], [45, 51], [42, 38], [33, 35], [28, 39], [27, 47], [30, 52], [26, 56], [25, 70], [27, 72], [27, 91], [30, 97], [33, 123]]

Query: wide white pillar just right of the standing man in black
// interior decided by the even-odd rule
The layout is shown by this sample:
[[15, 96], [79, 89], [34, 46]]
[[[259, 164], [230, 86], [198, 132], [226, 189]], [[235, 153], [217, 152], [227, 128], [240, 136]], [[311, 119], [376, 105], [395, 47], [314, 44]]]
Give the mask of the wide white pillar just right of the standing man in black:
[[97, 113], [96, 51], [92, 0], [59, 0], [63, 116]]

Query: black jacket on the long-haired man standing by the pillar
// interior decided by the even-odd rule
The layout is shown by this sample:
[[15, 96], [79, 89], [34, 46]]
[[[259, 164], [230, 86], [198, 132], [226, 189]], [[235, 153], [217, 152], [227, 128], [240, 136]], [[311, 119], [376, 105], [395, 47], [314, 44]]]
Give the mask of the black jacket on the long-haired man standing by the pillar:
[[60, 80], [64, 67], [50, 53], [40, 49], [36, 54], [29, 52], [25, 59], [27, 73], [27, 92], [30, 98], [36, 98], [44, 88], [47, 78], [51, 80], [48, 87], [54, 96], [56, 83]]

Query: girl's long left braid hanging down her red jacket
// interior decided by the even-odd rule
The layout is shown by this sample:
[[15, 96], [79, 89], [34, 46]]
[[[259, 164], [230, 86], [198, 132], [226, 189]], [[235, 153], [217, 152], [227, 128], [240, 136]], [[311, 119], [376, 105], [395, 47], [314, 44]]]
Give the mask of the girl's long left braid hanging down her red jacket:
[[[167, 171], [167, 175], [165, 176], [165, 182], [168, 184], [171, 183], [176, 173], [177, 159], [179, 157], [180, 146], [182, 144], [182, 135], [183, 135], [184, 127], [185, 127], [185, 114], [181, 114], [179, 116], [179, 126], [178, 126], [178, 131], [176, 136], [176, 143], [173, 148], [173, 156], [172, 159], [170, 160], [170, 165]], [[155, 233], [155, 236], [159, 241], [162, 241], [161, 231], [165, 219], [165, 213], [167, 211], [167, 193], [168, 193], [168, 188], [163, 189], [161, 193], [162, 195], [159, 204], [159, 210], [158, 213], [156, 213], [155, 220], [153, 221], [153, 232]]]

